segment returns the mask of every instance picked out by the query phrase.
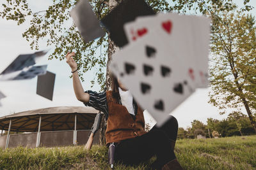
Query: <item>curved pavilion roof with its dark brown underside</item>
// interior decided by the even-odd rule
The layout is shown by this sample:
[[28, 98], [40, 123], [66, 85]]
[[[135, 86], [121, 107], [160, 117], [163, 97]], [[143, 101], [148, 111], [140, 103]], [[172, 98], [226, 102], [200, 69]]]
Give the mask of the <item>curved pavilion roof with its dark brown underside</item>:
[[[40, 131], [68, 131], [91, 129], [96, 114], [92, 107], [62, 106], [42, 108], [15, 113], [0, 118], [0, 130], [15, 132], [36, 132], [40, 123]], [[41, 117], [41, 121], [40, 120]], [[12, 120], [12, 121], [10, 121]]]

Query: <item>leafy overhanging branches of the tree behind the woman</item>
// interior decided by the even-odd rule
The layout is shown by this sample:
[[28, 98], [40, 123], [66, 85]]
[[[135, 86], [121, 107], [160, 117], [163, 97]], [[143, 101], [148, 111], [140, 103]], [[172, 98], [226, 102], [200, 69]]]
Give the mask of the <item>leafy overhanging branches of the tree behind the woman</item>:
[[[93, 11], [100, 19], [109, 12], [109, 1], [89, 0]], [[121, 0], [115, 0], [120, 3]], [[251, 10], [248, 6], [250, 0], [244, 0], [243, 10]], [[155, 11], [176, 11], [179, 13], [207, 13], [213, 9], [229, 11], [234, 8], [232, 0], [146, 0]], [[170, 2], [170, 3], [169, 3]], [[76, 29], [76, 25], [71, 24], [67, 27], [70, 20], [69, 11], [74, 8], [76, 0], [52, 0], [52, 5], [44, 11], [32, 11], [27, 0], [4, 0], [0, 4], [0, 17], [6, 20], [15, 20], [17, 24], [23, 24], [30, 20], [30, 26], [22, 34], [31, 45], [31, 49], [38, 50], [38, 41], [46, 38], [48, 46], [54, 46], [54, 51], [49, 55], [49, 59], [65, 58], [65, 54], [70, 51], [76, 52], [76, 62], [81, 72], [79, 76], [83, 80], [82, 74], [95, 68], [95, 78], [91, 81], [92, 85], [97, 81], [104, 88], [106, 60], [108, 56], [108, 34], [105, 37], [95, 39], [90, 43], [84, 43], [83, 38]], [[254, 80], [252, 80], [254, 81]]]

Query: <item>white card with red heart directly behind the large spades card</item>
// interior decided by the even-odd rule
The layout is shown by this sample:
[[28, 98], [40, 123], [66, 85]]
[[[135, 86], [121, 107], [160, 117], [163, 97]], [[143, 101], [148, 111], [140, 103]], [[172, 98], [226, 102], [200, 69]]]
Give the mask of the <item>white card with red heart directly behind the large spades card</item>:
[[[160, 41], [164, 41], [172, 52], [177, 53], [180, 60], [183, 61], [183, 64], [189, 64], [190, 69], [187, 74], [193, 78], [193, 86], [196, 86], [196, 81], [198, 81], [195, 76], [197, 67], [190, 33], [191, 25], [188, 23], [188, 17], [161, 13], [156, 17], [140, 17], [136, 21], [134, 27], [132, 26], [131, 29], [135, 29], [137, 32], [147, 30], [144, 34], [140, 33], [140, 36], [136, 39], [151, 36], [152, 33], [156, 32], [158, 35], [157, 38], [159, 38]], [[134, 42], [136, 39], [132, 41]]]

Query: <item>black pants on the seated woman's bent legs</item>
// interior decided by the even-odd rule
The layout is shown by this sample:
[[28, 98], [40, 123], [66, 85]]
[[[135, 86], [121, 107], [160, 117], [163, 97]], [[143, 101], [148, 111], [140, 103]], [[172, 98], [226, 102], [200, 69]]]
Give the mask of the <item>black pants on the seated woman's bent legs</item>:
[[176, 141], [178, 122], [172, 117], [161, 128], [154, 126], [147, 134], [126, 139], [115, 147], [115, 160], [124, 164], [139, 164], [156, 155], [154, 168], [161, 168], [170, 160], [175, 159], [171, 141]]

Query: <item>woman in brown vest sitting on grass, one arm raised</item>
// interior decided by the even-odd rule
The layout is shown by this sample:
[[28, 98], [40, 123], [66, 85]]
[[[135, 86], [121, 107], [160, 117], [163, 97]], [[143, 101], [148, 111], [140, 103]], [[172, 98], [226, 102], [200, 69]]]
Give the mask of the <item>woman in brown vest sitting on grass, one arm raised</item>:
[[156, 155], [157, 159], [152, 164], [153, 169], [182, 169], [173, 152], [178, 129], [176, 118], [171, 116], [161, 128], [154, 126], [149, 132], [145, 132], [143, 110], [113, 75], [113, 90], [100, 93], [91, 90], [84, 92], [77, 73], [77, 63], [73, 59], [74, 55], [74, 52], [66, 55], [72, 71], [74, 92], [85, 106], [92, 106], [104, 113], [108, 120], [106, 143], [107, 146], [114, 143], [115, 160], [131, 165], [139, 164]]

